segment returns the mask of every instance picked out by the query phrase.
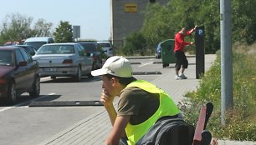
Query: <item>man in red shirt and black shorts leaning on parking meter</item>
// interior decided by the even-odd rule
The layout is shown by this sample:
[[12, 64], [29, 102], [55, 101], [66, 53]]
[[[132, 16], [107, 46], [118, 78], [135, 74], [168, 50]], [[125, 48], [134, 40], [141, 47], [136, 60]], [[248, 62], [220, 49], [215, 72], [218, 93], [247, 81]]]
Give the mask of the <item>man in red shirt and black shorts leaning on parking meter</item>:
[[[176, 76], [175, 79], [187, 79], [187, 77], [184, 75], [184, 71], [188, 66], [187, 57], [184, 52], [184, 48], [187, 45], [192, 45], [194, 42], [185, 42], [184, 38], [188, 35], [190, 35], [192, 32], [195, 31], [195, 28], [192, 28], [191, 30], [188, 30], [186, 28], [182, 28], [180, 32], [177, 32], [175, 35], [175, 46], [174, 46], [174, 53], [175, 57], [177, 58], [175, 69], [176, 69]], [[179, 74], [179, 71], [182, 67], [182, 72]]]

